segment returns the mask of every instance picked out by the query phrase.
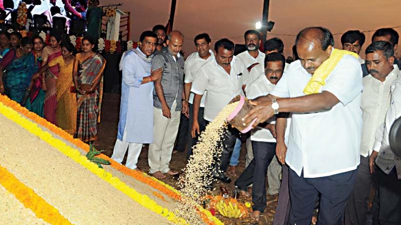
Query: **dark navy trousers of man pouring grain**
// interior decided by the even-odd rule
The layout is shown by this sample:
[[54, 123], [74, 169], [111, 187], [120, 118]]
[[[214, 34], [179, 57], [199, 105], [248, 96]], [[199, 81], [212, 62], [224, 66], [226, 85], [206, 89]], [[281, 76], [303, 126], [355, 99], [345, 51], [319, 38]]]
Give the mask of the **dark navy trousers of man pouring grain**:
[[356, 180], [357, 169], [331, 176], [304, 178], [289, 168], [291, 210], [288, 224], [310, 225], [318, 194], [321, 193], [319, 225], [342, 225], [345, 205]]

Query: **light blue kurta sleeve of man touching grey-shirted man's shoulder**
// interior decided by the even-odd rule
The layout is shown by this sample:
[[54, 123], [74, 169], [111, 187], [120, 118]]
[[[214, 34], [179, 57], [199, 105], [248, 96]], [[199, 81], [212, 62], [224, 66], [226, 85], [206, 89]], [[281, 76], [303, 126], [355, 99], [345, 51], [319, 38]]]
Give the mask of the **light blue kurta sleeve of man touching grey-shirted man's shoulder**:
[[126, 55], [122, 63], [122, 80], [128, 86], [139, 87], [143, 77], [138, 76], [136, 72], [137, 61], [135, 55]]

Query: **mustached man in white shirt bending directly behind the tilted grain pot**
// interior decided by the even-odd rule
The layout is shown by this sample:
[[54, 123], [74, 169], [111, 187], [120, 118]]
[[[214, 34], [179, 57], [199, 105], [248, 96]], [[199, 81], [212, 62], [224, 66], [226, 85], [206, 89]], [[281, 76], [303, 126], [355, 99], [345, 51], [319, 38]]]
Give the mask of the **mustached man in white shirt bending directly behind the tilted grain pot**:
[[[282, 54], [273, 52], [266, 55], [264, 65], [265, 72], [260, 74], [248, 87], [247, 97], [250, 99], [265, 96], [273, 90], [284, 73], [285, 58]], [[251, 131], [251, 141], [255, 157], [236, 180], [235, 185], [243, 194], [246, 194], [247, 187], [253, 184], [252, 202], [254, 203], [254, 211], [251, 216], [255, 220], [259, 220], [260, 213], [266, 208], [266, 174], [268, 166], [276, 155], [275, 118], [271, 118], [266, 123], [260, 124], [253, 129]]]

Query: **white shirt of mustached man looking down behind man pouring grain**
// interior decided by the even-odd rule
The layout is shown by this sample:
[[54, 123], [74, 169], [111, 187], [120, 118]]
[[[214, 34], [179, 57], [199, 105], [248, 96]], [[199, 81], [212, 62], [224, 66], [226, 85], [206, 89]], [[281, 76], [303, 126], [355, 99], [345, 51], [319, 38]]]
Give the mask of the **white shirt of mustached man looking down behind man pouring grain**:
[[362, 139], [360, 143], [360, 154], [367, 157], [373, 151], [374, 134], [377, 128], [384, 122], [385, 114], [390, 106], [391, 83], [397, 78], [399, 69], [394, 69], [386, 76], [384, 82], [374, 78], [372, 75], [363, 77], [362, 91]]

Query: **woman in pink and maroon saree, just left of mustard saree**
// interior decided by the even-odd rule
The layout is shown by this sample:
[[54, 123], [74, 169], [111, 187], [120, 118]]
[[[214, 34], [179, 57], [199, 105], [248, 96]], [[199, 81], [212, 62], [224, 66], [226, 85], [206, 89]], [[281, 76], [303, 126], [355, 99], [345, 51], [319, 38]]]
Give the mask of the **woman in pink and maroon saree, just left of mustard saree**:
[[[51, 34], [49, 38], [50, 46], [46, 46], [42, 52], [42, 66], [61, 56], [61, 38], [56, 34]], [[55, 65], [42, 74], [43, 85], [46, 86], [45, 105], [43, 107], [44, 118], [50, 123], [57, 125], [56, 107], [57, 107], [57, 78], [59, 77], [59, 66]]]

